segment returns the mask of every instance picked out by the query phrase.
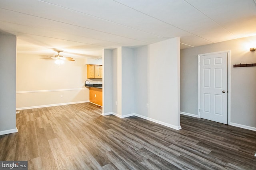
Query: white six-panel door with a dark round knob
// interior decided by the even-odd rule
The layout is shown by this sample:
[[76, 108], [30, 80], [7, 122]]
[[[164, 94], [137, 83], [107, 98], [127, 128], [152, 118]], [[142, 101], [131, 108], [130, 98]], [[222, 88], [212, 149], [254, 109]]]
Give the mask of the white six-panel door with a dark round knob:
[[200, 117], [228, 123], [228, 53], [200, 56]]

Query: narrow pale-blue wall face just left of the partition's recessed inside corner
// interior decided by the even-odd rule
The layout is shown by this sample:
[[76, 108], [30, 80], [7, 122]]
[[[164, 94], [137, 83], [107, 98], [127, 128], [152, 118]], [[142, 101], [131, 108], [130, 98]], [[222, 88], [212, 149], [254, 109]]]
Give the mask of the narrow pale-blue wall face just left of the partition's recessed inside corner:
[[134, 69], [134, 49], [122, 47], [122, 117], [135, 113]]

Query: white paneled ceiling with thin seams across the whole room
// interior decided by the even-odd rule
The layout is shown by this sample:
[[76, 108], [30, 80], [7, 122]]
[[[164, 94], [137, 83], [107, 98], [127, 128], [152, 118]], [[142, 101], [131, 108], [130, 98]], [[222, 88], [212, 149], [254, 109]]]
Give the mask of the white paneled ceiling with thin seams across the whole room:
[[17, 53], [98, 58], [172, 37], [185, 49], [256, 35], [256, 0], [0, 0], [0, 32]]

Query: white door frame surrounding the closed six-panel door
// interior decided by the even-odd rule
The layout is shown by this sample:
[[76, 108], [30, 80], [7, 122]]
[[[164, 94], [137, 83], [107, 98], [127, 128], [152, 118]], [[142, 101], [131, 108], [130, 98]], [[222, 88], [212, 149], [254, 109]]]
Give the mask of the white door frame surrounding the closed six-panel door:
[[204, 53], [198, 55], [198, 117], [200, 118], [200, 57], [205, 55], [214, 55], [214, 54], [220, 54], [220, 53], [227, 53], [228, 59], [227, 59], [227, 70], [228, 70], [228, 125], [230, 125], [230, 118], [231, 118], [231, 63], [230, 63], [230, 50], [228, 51], [219, 51], [214, 53]]

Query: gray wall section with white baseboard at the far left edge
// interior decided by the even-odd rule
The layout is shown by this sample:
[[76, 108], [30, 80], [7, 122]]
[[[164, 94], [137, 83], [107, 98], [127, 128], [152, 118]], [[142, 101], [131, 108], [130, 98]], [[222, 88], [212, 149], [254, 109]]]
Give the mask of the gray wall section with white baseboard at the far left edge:
[[16, 36], [0, 34], [0, 135], [16, 129]]

